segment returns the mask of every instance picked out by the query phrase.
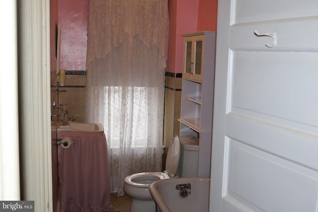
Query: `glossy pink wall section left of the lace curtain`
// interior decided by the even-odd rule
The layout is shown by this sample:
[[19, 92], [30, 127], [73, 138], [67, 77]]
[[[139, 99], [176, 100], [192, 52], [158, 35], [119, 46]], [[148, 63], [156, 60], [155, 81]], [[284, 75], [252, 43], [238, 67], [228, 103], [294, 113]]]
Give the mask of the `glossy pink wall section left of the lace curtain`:
[[88, 0], [58, 0], [60, 69], [86, 70]]

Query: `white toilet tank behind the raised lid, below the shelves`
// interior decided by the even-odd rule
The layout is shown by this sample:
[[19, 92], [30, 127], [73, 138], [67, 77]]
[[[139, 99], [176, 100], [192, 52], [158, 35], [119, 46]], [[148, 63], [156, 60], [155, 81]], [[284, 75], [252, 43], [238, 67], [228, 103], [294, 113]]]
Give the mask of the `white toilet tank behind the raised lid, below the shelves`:
[[199, 140], [194, 136], [180, 136], [181, 151], [178, 177], [197, 177], [199, 159]]

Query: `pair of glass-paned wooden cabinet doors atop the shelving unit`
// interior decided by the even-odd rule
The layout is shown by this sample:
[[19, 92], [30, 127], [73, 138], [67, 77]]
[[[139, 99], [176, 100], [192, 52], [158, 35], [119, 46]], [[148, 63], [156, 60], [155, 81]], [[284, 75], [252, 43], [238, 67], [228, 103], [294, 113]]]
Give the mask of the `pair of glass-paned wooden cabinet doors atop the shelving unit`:
[[184, 38], [183, 76], [202, 81], [204, 35]]

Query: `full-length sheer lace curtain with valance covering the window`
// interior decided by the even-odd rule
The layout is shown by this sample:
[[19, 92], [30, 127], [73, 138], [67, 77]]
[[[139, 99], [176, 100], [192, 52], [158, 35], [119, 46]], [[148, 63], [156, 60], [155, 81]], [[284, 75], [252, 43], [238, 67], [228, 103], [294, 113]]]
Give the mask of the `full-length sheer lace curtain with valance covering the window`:
[[111, 192], [161, 171], [168, 0], [89, 0], [86, 121], [102, 123]]

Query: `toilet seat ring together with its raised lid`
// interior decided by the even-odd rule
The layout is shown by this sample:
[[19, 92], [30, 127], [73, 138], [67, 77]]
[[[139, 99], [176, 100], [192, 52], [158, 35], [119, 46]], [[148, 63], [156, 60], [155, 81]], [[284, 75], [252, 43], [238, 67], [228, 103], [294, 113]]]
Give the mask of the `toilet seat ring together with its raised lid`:
[[181, 144], [179, 137], [177, 135], [174, 135], [169, 145], [164, 172], [141, 172], [132, 174], [125, 178], [125, 183], [132, 187], [149, 188], [153, 182], [143, 184], [134, 181], [136, 181], [137, 179], [142, 180], [143, 178], [149, 181], [157, 181], [174, 177], [180, 158], [180, 146]]

